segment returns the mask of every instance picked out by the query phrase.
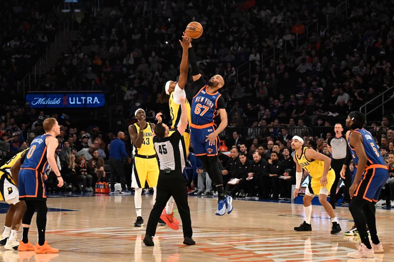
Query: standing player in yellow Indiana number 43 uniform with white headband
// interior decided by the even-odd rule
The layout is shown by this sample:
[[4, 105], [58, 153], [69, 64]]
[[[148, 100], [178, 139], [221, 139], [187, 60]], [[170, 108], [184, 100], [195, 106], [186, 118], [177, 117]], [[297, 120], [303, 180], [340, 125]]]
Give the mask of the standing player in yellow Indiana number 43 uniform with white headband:
[[145, 187], [145, 181], [149, 187], [153, 188], [153, 202], [156, 200], [156, 186], [159, 178], [159, 164], [156, 159], [156, 151], [153, 145], [154, 123], [146, 122], [145, 111], [141, 108], [135, 111], [137, 123], [129, 126], [129, 134], [133, 144], [134, 165], [131, 175], [131, 187], [135, 189], [134, 204], [137, 219], [134, 227], [144, 225], [142, 218], [142, 189]]

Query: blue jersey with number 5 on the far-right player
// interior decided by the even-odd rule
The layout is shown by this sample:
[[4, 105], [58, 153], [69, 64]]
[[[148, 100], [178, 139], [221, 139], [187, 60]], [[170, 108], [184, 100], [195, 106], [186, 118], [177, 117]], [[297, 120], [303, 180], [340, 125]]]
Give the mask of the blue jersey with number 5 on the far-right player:
[[[357, 128], [357, 129], [353, 130], [353, 132], [359, 133], [362, 136], [362, 146], [364, 146], [364, 151], [365, 151], [366, 158], [367, 158], [365, 168], [367, 168], [370, 165], [374, 165], [374, 164], [386, 165], [385, 161], [383, 160], [383, 157], [380, 154], [379, 148], [376, 145], [375, 140], [373, 139], [373, 136], [371, 135], [371, 133], [369, 133], [364, 128], [361, 128], [361, 129]], [[349, 145], [350, 151], [352, 153], [353, 162], [355, 163], [355, 165], [358, 165], [359, 157], [358, 157], [354, 147], [352, 145], [350, 145], [350, 136], [351, 135], [352, 135], [352, 133], [350, 133], [349, 137], [348, 137], [348, 145]]]

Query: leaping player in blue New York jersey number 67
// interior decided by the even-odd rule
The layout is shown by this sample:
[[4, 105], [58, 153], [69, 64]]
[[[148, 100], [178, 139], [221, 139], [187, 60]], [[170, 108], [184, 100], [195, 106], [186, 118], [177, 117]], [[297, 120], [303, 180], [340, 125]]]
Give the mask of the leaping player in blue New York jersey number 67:
[[[218, 208], [215, 215], [222, 216], [232, 211], [232, 198], [225, 195], [223, 177], [218, 165], [218, 135], [227, 126], [226, 105], [222, 95], [218, 92], [225, 85], [221, 75], [214, 75], [205, 85], [199, 73], [197, 58], [192, 45], [189, 47], [189, 61], [192, 67], [194, 86], [198, 88], [193, 97], [191, 108], [190, 137], [194, 153], [201, 160], [205, 169], [218, 191]], [[221, 123], [215, 128], [213, 118], [219, 111]]]

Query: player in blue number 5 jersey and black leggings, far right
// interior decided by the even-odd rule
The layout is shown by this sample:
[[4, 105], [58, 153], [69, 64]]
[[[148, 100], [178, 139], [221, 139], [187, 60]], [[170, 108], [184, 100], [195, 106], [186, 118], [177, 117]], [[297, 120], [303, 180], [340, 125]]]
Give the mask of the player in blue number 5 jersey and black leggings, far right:
[[[352, 199], [349, 210], [361, 238], [358, 250], [348, 253], [355, 259], [373, 258], [374, 253], [384, 251], [376, 232], [375, 203], [389, 178], [383, 157], [371, 133], [363, 128], [364, 123], [365, 116], [358, 111], [351, 112], [346, 119], [346, 126], [350, 129], [348, 146], [354, 163], [357, 163], [357, 172], [349, 189]], [[368, 225], [372, 243], [365, 225]]]

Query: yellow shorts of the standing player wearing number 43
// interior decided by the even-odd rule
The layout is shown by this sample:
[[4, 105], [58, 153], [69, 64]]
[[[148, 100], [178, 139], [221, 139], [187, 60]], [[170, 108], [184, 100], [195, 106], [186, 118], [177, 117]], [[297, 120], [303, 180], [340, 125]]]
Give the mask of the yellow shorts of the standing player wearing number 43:
[[131, 187], [144, 188], [145, 181], [149, 187], [157, 186], [159, 179], [159, 165], [155, 155], [134, 155], [134, 165], [131, 175]]

